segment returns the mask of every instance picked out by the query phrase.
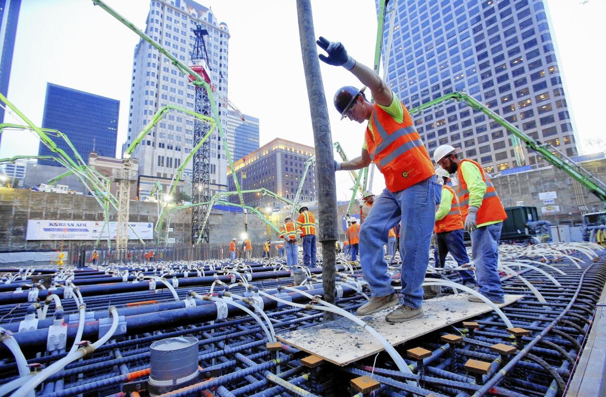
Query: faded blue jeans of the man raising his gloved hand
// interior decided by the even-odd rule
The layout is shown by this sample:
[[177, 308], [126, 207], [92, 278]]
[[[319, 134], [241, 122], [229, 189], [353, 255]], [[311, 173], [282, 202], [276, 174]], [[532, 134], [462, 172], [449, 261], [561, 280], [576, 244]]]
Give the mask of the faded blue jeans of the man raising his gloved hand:
[[364, 244], [360, 256], [362, 272], [373, 296], [387, 296], [393, 293], [383, 245], [387, 244], [389, 230], [398, 222], [402, 222], [402, 303], [414, 309], [421, 307], [421, 284], [429, 264], [431, 234], [440, 195], [441, 186], [436, 183], [436, 177], [431, 176], [400, 192], [392, 193], [385, 189], [375, 201], [360, 229], [360, 241]]

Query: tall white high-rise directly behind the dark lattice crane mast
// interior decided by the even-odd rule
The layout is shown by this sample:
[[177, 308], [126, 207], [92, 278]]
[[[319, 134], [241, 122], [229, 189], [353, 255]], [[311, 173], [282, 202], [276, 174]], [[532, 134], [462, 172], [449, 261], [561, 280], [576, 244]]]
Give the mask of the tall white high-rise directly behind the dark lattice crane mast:
[[[191, 0], [152, 0], [145, 33], [170, 51], [181, 62], [189, 65], [195, 42], [196, 25], [208, 31], [204, 36], [210, 61], [211, 83], [216, 87], [216, 104], [222, 125], [227, 122], [227, 107], [218, 99], [227, 95], [227, 57], [230, 34], [225, 22], [218, 22], [212, 10]], [[173, 65], [145, 41], [140, 40], [133, 57], [133, 78], [128, 115], [130, 144], [147, 125], [153, 115], [165, 105], [194, 110], [195, 90]], [[181, 112], [170, 112], [152, 128], [133, 153], [139, 159], [139, 197], [150, 193], [155, 181], [170, 184], [181, 162], [193, 147], [193, 117]], [[210, 136], [210, 190], [226, 188], [227, 161], [217, 130]], [[191, 177], [191, 162], [184, 170]], [[184, 184], [185, 178], [179, 181]]]

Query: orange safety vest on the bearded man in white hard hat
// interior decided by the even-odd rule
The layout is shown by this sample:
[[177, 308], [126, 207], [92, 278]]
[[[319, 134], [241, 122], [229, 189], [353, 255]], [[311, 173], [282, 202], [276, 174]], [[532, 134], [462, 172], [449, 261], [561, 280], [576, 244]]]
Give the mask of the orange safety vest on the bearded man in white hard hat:
[[[486, 222], [493, 221], [504, 221], [507, 219], [507, 214], [505, 213], [505, 209], [503, 208], [503, 204], [501, 204], [501, 200], [499, 196], [496, 194], [496, 190], [494, 189], [494, 185], [492, 181], [488, 177], [488, 175], [484, 172], [484, 169], [478, 164], [470, 159], [461, 160], [461, 164], [464, 161], [471, 162], [471, 164], [478, 167], [480, 170], [480, 175], [482, 175], [482, 181], [486, 184], [486, 193], [484, 193], [484, 199], [482, 200], [482, 205], [478, 210], [478, 225], [481, 225]], [[461, 171], [461, 164], [459, 164], [459, 168], [457, 170], [457, 179], [459, 181], [457, 187], [457, 193], [459, 196], [459, 208], [461, 209], [461, 215], [463, 219], [467, 218], [467, 214], [469, 213], [469, 190], [467, 190], [467, 183], [465, 183], [465, 179], [463, 179], [463, 172]]]

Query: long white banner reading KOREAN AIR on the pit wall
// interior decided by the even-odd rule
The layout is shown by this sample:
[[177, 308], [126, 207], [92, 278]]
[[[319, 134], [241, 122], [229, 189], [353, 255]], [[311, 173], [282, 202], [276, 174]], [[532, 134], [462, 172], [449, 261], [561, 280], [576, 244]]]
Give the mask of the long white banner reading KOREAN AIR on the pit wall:
[[[137, 239], [132, 229], [144, 240], [153, 239], [151, 222], [130, 222], [128, 239]], [[55, 219], [30, 219], [27, 221], [28, 240], [96, 240], [116, 239], [116, 222], [109, 222], [109, 230], [102, 221], [58, 221]]]

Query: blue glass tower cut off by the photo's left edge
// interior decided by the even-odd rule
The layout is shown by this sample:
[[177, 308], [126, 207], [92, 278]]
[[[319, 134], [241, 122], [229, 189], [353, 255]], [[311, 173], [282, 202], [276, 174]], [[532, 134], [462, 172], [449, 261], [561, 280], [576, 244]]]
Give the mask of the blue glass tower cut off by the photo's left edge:
[[[20, 7], [21, 0], [0, 0], [0, 92], [4, 95], [8, 93]], [[0, 122], [3, 120], [4, 108], [0, 107]]]

